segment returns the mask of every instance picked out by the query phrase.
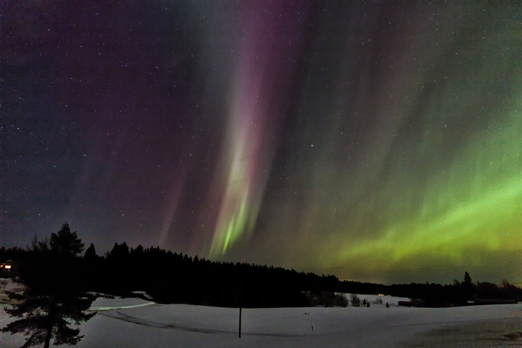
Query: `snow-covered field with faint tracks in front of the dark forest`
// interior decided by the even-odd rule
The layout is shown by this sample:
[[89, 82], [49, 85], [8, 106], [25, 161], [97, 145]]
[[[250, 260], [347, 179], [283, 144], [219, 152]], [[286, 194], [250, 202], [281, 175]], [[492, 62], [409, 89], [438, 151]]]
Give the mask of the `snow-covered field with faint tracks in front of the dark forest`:
[[[372, 296], [359, 295], [374, 301]], [[388, 301], [382, 296], [383, 303]], [[398, 300], [396, 300], [398, 301]], [[395, 303], [396, 303], [395, 301]], [[77, 347], [505, 347], [522, 344], [522, 304], [454, 308], [259, 308], [98, 298]], [[108, 309], [114, 308], [114, 309]], [[305, 314], [307, 313], [307, 314]], [[308, 314], [309, 313], [309, 314]], [[11, 319], [3, 308], [0, 325]], [[313, 327], [313, 330], [312, 330]], [[19, 347], [0, 333], [0, 346]]]

